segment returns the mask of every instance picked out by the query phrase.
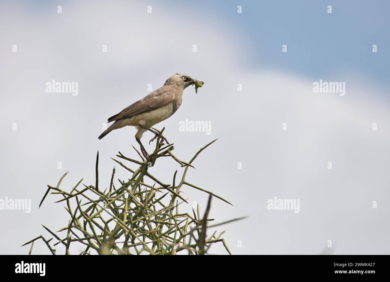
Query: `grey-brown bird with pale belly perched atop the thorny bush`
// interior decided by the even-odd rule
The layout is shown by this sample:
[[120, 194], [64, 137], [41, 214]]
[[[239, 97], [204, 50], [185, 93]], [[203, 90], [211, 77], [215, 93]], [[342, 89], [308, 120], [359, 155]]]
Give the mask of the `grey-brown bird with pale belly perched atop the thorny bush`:
[[[141, 100], [129, 105], [118, 114], [108, 118], [109, 123], [112, 121], [114, 123], [100, 134], [98, 139], [102, 139], [114, 129], [134, 126], [137, 129], [135, 140], [139, 143], [144, 157], [149, 159], [150, 155], [141, 143], [142, 135], [149, 130], [155, 134], [151, 141], [156, 139], [159, 132], [151, 129], [151, 127], [172, 116], [179, 109], [183, 101], [184, 89], [194, 83], [196, 84], [198, 81], [197, 79], [192, 79], [189, 75], [175, 73], [165, 81], [163, 86], [149, 93]], [[168, 143], [165, 137], [162, 136], [162, 138]]]

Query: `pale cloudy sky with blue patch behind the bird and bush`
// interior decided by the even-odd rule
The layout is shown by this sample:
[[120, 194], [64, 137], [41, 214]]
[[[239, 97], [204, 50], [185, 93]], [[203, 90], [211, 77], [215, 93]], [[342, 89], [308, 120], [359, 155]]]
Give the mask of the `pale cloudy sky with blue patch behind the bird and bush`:
[[[156, 127], [165, 127], [184, 160], [218, 138], [188, 180], [233, 203], [213, 199], [216, 221], [248, 216], [217, 229], [226, 230], [233, 254], [388, 254], [389, 7], [385, 1], [0, 2], [0, 199], [31, 200], [29, 213], [0, 210], [0, 240], [7, 242], [0, 253], [26, 254], [30, 246], [23, 243], [50, 237], [41, 224], [52, 230], [67, 224], [55, 195], [40, 209], [39, 202], [68, 170], [63, 187], [81, 178], [93, 184], [97, 150], [99, 182], [109, 186], [110, 157], [120, 151], [136, 158], [131, 144], [137, 143], [131, 127], [98, 140], [103, 123], [150, 93], [148, 84], [157, 89], [179, 72], [205, 85], [197, 94], [188, 87], [181, 107]], [[78, 95], [47, 93], [52, 80], [78, 82]], [[345, 95], [314, 92], [320, 80], [345, 82]], [[209, 134], [179, 130], [186, 119], [208, 122]], [[177, 169], [183, 170], [167, 158], [153, 173], [170, 182]], [[129, 175], [117, 166], [117, 177]], [[206, 194], [185, 187], [183, 196], [204, 211]], [[274, 197], [299, 199], [299, 212], [268, 209]], [[217, 244], [209, 252], [226, 253]], [[48, 254], [43, 242], [33, 254]]]

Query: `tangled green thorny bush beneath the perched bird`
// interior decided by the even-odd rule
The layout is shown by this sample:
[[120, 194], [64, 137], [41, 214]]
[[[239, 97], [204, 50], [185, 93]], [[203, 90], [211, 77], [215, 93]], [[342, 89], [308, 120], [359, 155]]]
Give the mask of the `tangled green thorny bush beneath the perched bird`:
[[[110, 187], [107, 191], [99, 189], [99, 152], [96, 156], [96, 179], [95, 186], [84, 186], [83, 189], [78, 188], [83, 181], [81, 179], [74, 186], [70, 193], [60, 189], [60, 184], [65, 173], [56, 187], [48, 185], [48, 189], [43, 196], [39, 207], [41, 207], [44, 199], [50, 191], [51, 194], [60, 194], [63, 196], [57, 202], [66, 202], [65, 209], [69, 213], [70, 220], [66, 227], [61, 228], [57, 232], [66, 231], [66, 235], [56, 235], [57, 232], [51, 231], [46, 226], [42, 225], [47, 232], [53, 236], [57, 242], [50, 245], [53, 238], [46, 240], [42, 235], [28, 241], [23, 246], [32, 244], [29, 254], [32, 252], [34, 241], [42, 239], [47, 245], [50, 252], [55, 255], [55, 246], [65, 246], [65, 254], [69, 255], [69, 247], [71, 243], [81, 243], [85, 249], [80, 255], [89, 255], [91, 250], [98, 254], [141, 254], [143, 252], [149, 254], [176, 254], [183, 250], [187, 250], [188, 254], [206, 254], [212, 244], [221, 242], [229, 254], [229, 248], [225, 244], [224, 239], [220, 239], [221, 232], [216, 236], [216, 231], [207, 238], [207, 222], [213, 221], [208, 218], [211, 208], [212, 196], [229, 203], [227, 200], [214, 193], [197, 187], [185, 180], [188, 168], [193, 168], [192, 163], [205, 148], [214, 143], [210, 142], [193, 156], [189, 162], [185, 162], [177, 158], [173, 153], [173, 144], [163, 146], [161, 136], [164, 131], [157, 130], [156, 148], [150, 155], [149, 161], [145, 160], [141, 153], [133, 146], [141, 161], [137, 161], [124, 156], [121, 152], [117, 155], [118, 158], [136, 164], [137, 169], [133, 170], [116, 159], [115, 162], [120, 164], [125, 170], [131, 173], [131, 177], [127, 182], [119, 180], [118, 188], [114, 185], [115, 168], [112, 171]], [[161, 180], [149, 173], [148, 169], [155, 165], [156, 160], [160, 157], [172, 157], [181, 167], [184, 167], [184, 172], [181, 180], [176, 179], [177, 170], [174, 173], [172, 184], [165, 184]], [[149, 185], [145, 181], [151, 180], [154, 184]], [[157, 184], [158, 187], [155, 187]], [[193, 215], [189, 213], [180, 213], [179, 206], [181, 203], [188, 203], [180, 195], [180, 189], [186, 186], [193, 187], [200, 191], [209, 194], [209, 200], [206, 207], [206, 212], [203, 218], [200, 216], [199, 204], [197, 205], [197, 213], [193, 211]], [[168, 201], [166, 199], [169, 199]], [[179, 200], [180, 199], [180, 202]], [[164, 201], [165, 200], [165, 201]], [[76, 202], [74, 210], [71, 208], [71, 201]], [[84, 203], [82, 203], [84, 202]], [[237, 218], [227, 222], [240, 220]], [[227, 223], [225, 222], [225, 223]], [[213, 225], [218, 226], [221, 225]], [[191, 243], [195, 240], [195, 243]]]

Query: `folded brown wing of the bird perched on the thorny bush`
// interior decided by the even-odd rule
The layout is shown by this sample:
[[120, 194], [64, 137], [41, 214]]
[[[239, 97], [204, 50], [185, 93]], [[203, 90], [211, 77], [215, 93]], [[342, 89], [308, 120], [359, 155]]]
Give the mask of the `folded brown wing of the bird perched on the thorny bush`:
[[170, 86], [160, 87], [152, 93], [146, 95], [141, 100], [129, 105], [118, 114], [108, 118], [108, 122], [120, 120], [122, 118], [130, 118], [136, 114], [153, 111], [159, 107], [167, 105], [175, 98], [175, 90], [176, 89]]

